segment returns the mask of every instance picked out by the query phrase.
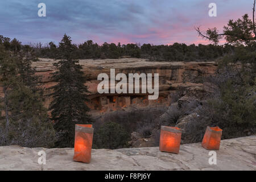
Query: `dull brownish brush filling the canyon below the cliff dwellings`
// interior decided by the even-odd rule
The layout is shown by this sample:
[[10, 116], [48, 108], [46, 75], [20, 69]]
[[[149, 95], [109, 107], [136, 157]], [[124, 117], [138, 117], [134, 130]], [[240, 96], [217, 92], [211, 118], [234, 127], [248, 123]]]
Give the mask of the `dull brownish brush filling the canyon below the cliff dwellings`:
[[[152, 135], [152, 131], [158, 127], [158, 119], [160, 115], [162, 115], [166, 111], [165, 106], [159, 106], [157, 108], [148, 108], [148, 109], [131, 109], [127, 110], [117, 110], [111, 113], [106, 113], [103, 116], [94, 118], [96, 121], [94, 123], [94, 148], [108, 148], [102, 143], [101, 137], [98, 134], [100, 128], [102, 128], [105, 123], [114, 122], [122, 127], [127, 135], [127, 139], [125, 141], [130, 140], [130, 134], [134, 131], [137, 131], [142, 137], [147, 138]], [[119, 146], [127, 147], [125, 144], [119, 144]], [[113, 148], [118, 147], [115, 146]]]

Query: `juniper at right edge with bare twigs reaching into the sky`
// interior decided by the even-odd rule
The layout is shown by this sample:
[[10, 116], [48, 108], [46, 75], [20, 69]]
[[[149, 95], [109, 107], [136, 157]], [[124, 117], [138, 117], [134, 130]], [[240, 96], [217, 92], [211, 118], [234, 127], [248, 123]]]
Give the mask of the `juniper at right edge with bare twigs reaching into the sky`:
[[[209, 28], [204, 34], [196, 28], [202, 38], [215, 44], [225, 39], [225, 48], [232, 49], [231, 54], [217, 61], [217, 74], [212, 78], [216, 92], [208, 101], [207, 109], [199, 114], [202, 121], [222, 127], [225, 138], [256, 133], [256, 1], [253, 2], [252, 20], [247, 14], [242, 19], [229, 20], [222, 33], [217, 28]], [[211, 110], [211, 115], [207, 110]]]

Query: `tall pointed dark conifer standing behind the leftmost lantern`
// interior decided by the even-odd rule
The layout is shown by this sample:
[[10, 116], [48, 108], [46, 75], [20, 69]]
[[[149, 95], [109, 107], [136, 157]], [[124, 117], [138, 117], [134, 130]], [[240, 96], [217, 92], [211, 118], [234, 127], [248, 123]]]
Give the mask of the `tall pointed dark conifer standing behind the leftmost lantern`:
[[75, 60], [72, 52], [75, 46], [66, 34], [59, 43], [59, 57], [61, 60], [55, 63], [57, 71], [53, 73], [52, 80], [58, 82], [52, 86], [53, 101], [49, 106], [51, 110], [54, 128], [61, 133], [61, 137], [56, 142], [57, 147], [72, 147], [75, 137], [75, 124], [92, 122], [90, 115], [87, 114], [89, 107], [88, 88], [84, 85], [86, 77], [82, 72], [79, 61]]

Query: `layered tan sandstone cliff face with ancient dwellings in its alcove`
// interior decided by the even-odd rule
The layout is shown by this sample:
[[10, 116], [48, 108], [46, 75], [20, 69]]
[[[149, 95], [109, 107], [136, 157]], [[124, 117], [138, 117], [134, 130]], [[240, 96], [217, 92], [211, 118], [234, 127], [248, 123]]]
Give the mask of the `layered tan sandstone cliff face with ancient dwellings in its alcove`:
[[[55, 72], [55, 68], [51, 59], [40, 59], [34, 62], [36, 67], [36, 75], [42, 76], [43, 85], [49, 88], [55, 85], [50, 78], [50, 73]], [[195, 94], [195, 92], [204, 92], [205, 88], [200, 79], [213, 75], [217, 69], [216, 63], [213, 62], [157, 62], [146, 61], [144, 59], [108, 59], [108, 60], [80, 60], [83, 71], [88, 77], [88, 85], [90, 91], [90, 103], [88, 106], [92, 109], [92, 113], [105, 113], [112, 110], [126, 109], [130, 105], [136, 107], [168, 105], [170, 103], [170, 93], [175, 92], [178, 87], [187, 89], [187, 93]], [[154, 73], [159, 74], [159, 97], [158, 100], [148, 100], [147, 94], [99, 94], [97, 85], [99, 82], [97, 77], [100, 73], [108, 74], [110, 78], [110, 69], [115, 69], [117, 73]], [[154, 78], [152, 78], [154, 80]], [[118, 81], [116, 81], [118, 82]], [[203, 91], [202, 91], [203, 90]], [[51, 102], [51, 98], [46, 99], [46, 106]]]

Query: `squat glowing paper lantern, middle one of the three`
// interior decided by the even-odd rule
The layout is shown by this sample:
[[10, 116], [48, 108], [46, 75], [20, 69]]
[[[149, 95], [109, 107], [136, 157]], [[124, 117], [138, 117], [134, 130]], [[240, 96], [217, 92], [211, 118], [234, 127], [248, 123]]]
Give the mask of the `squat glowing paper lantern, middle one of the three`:
[[178, 154], [180, 150], [181, 129], [161, 126], [159, 150]]

